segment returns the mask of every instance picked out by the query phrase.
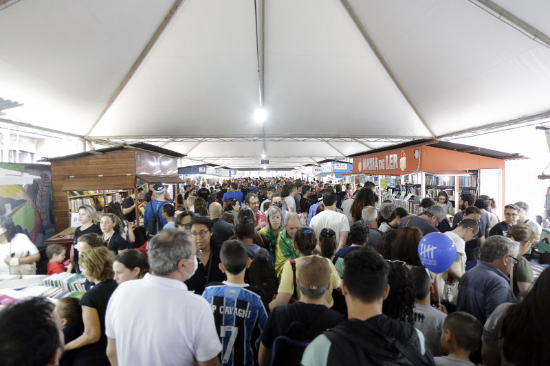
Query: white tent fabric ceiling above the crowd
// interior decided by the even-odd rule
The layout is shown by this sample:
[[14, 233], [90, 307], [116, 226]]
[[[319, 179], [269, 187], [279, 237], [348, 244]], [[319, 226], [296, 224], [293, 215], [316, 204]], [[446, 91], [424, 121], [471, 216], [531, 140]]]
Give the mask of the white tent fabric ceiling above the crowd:
[[[24, 105], [6, 118], [90, 132], [98, 147], [163, 138], [150, 143], [245, 168], [264, 151], [272, 166], [298, 167], [391, 138], [550, 116], [550, 46], [484, 5], [550, 34], [548, 1], [267, 0], [255, 9], [254, 1], [184, 0], [115, 93], [177, 3], [8, 1], [0, 98]], [[265, 126], [252, 119], [260, 100]]]

